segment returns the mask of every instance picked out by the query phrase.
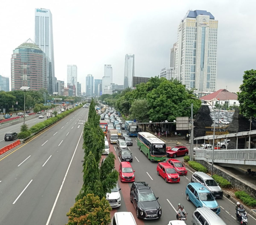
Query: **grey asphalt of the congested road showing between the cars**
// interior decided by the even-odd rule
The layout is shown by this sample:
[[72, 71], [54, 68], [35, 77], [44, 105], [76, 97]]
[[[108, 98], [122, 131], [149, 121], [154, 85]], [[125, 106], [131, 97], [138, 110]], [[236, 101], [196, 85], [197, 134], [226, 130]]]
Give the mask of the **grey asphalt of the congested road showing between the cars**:
[[[163, 210], [162, 218], [160, 220], [145, 220], [143, 222], [145, 224], [167, 224], [170, 220], [175, 220], [175, 209], [177, 208], [178, 203], [181, 203], [184, 205], [185, 210], [188, 213], [187, 224], [190, 225], [191, 215], [195, 211], [196, 207], [193, 203], [187, 201], [185, 191], [187, 184], [190, 182], [192, 173], [189, 171], [187, 176], [181, 176], [181, 181], [178, 184], [166, 184], [162, 177], [157, 176], [157, 162], [148, 161], [146, 156], [139, 151], [135, 138], [132, 139], [133, 146], [129, 146], [129, 148], [133, 153], [133, 162], [131, 164], [135, 170], [135, 180], [148, 182], [155, 195], [159, 197], [158, 201], [161, 204]], [[179, 160], [179, 158], [177, 159]], [[182, 160], [183, 157], [180, 157], [180, 161]], [[116, 161], [119, 163], [118, 159]], [[123, 184], [123, 186], [130, 188], [131, 184]], [[221, 207], [221, 212], [219, 215], [220, 218], [222, 218], [222, 220], [224, 220], [228, 225], [236, 223], [235, 204], [225, 197], [222, 199], [217, 199], [217, 202]], [[130, 204], [132, 205], [132, 203]], [[129, 206], [126, 205], [126, 207]], [[135, 210], [132, 213], [135, 217]], [[256, 222], [256, 220], [249, 216], [249, 223], [250, 221], [252, 223]]]

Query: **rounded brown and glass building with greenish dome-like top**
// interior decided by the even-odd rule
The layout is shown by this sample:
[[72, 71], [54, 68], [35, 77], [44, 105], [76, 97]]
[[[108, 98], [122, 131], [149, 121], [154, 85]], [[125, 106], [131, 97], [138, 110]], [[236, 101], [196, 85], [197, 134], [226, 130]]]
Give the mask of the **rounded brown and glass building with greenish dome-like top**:
[[15, 48], [11, 59], [12, 90], [22, 86], [28, 86], [30, 90], [47, 89], [47, 59], [31, 39]]

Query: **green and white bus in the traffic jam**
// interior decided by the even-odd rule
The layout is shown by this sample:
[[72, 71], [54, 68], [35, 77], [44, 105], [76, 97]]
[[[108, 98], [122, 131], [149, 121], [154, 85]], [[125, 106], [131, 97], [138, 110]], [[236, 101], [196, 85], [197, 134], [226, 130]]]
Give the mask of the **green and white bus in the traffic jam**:
[[137, 145], [148, 160], [164, 161], [166, 158], [166, 145], [164, 141], [149, 132], [139, 132]]

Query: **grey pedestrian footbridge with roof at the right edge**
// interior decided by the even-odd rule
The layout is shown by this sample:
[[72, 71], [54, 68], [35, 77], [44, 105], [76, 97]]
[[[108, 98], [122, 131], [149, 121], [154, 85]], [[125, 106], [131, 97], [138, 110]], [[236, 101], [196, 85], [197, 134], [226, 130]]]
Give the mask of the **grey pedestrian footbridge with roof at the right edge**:
[[[256, 137], [256, 130], [246, 131], [246, 132], [238, 132], [234, 134], [226, 134], [219, 136], [203, 136], [194, 138], [196, 142], [198, 140], [208, 140], [210, 143], [214, 140], [220, 141], [221, 139], [231, 139], [235, 138], [236, 140], [236, 149], [198, 149], [195, 151], [194, 158], [195, 160], [203, 160], [205, 162], [212, 163], [212, 154], [213, 154], [213, 162], [219, 164], [220, 166], [227, 167], [235, 167], [239, 166], [239, 168], [256, 170], [256, 148], [251, 148], [251, 137]], [[245, 146], [243, 149], [237, 149], [238, 146], [238, 138], [245, 139]], [[246, 141], [249, 139], [249, 141]], [[215, 141], [214, 141], [215, 142]], [[246, 148], [247, 146], [247, 148]]]

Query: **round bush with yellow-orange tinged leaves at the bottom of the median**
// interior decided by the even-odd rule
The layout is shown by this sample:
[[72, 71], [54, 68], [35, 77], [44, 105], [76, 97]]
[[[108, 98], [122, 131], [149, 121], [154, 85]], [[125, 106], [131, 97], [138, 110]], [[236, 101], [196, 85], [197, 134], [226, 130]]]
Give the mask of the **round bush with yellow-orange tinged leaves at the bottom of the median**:
[[108, 225], [111, 207], [105, 197], [88, 194], [79, 199], [67, 213], [67, 225]]

